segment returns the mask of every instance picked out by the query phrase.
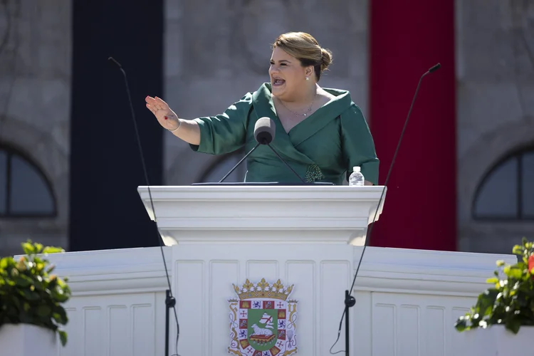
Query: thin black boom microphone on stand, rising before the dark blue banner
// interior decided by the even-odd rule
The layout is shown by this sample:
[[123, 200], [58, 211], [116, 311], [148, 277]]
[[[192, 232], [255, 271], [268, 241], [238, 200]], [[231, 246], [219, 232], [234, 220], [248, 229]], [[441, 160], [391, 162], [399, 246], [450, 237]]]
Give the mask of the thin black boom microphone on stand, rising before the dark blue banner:
[[137, 121], [135, 120], [135, 111], [134, 111], [133, 104], [132, 104], [132, 96], [130, 95], [130, 86], [128, 85], [126, 72], [122, 68], [120, 63], [117, 62], [115, 60], [115, 58], [113, 58], [113, 57], [108, 57], [108, 61], [111, 61], [112, 63], [115, 63], [115, 65], [122, 72], [122, 76], [124, 77], [125, 86], [126, 86], [126, 93], [127, 93], [127, 97], [128, 97], [128, 103], [130, 104], [130, 111], [131, 111], [131, 114], [132, 114], [132, 120], [133, 120], [133, 124], [134, 124], [134, 128], [135, 128], [135, 135], [137, 137], [137, 147], [139, 147], [139, 153], [140, 153], [140, 156], [141, 156], [142, 169], [143, 169], [143, 173], [145, 174], [145, 182], [147, 184], [148, 195], [150, 197], [150, 205], [151, 205], [151, 208], [152, 208], [152, 213], [154, 214], [154, 222], [156, 224], [156, 232], [157, 232], [157, 235], [159, 237], [159, 239], [158, 239], [159, 248], [162, 251], [163, 266], [165, 268], [165, 274], [167, 276], [167, 285], [169, 286], [169, 289], [167, 290], [167, 298], [165, 299], [165, 305], [167, 306], [167, 318], [166, 318], [167, 319], [166, 320], [167, 325], [166, 325], [166, 335], [165, 335], [165, 355], [167, 355], [167, 356], [169, 355], [169, 329], [168, 329], [169, 328], [169, 322], [168, 322], [169, 320], [168, 320], [168, 315], [169, 315], [169, 308], [172, 308], [174, 310], [174, 320], [176, 320], [176, 327], [177, 327], [176, 354], [175, 355], [179, 356], [179, 354], [178, 354], [178, 339], [179, 339], [179, 335], [180, 335], [180, 326], [179, 326], [179, 323], [178, 323], [178, 315], [177, 315], [177, 312], [176, 312], [176, 308], [174, 307], [174, 305], [176, 305], [176, 299], [172, 295], [172, 288], [171, 288], [171, 281], [170, 281], [170, 278], [169, 278], [169, 271], [167, 269], [167, 263], [165, 262], [165, 255], [164, 255], [164, 252], [163, 252], [163, 239], [162, 239], [161, 234], [159, 234], [159, 229], [157, 227], [156, 211], [154, 209], [154, 202], [152, 201], [152, 192], [150, 192], [150, 184], [149, 184], [149, 181], [148, 181], [147, 167], [146, 167], [146, 164], [145, 164], [145, 157], [143, 156], [143, 150], [142, 150], [142, 146], [141, 146], [141, 139], [139, 137], [139, 130], [137, 130]]

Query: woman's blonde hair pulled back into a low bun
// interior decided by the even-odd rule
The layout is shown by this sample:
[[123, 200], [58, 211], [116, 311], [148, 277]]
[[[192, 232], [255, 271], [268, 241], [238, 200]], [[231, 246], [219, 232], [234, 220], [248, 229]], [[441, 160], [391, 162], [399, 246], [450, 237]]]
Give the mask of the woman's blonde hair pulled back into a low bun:
[[313, 36], [305, 32], [288, 32], [276, 38], [273, 49], [280, 47], [290, 56], [297, 58], [302, 66], [313, 66], [315, 77], [319, 81], [321, 73], [332, 63], [332, 52], [321, 48]]

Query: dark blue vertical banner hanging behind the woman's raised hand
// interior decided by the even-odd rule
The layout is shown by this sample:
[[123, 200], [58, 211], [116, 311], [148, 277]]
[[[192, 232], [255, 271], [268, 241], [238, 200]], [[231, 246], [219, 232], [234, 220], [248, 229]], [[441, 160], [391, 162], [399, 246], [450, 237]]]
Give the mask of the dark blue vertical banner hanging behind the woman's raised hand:
[[73, 1], [70, 251], [156, 246], [137, 186], [145, 185], [128, 75], [151, 185], [163, 182], [162, 128], [145, 108], [163, 97], [163, 0]]

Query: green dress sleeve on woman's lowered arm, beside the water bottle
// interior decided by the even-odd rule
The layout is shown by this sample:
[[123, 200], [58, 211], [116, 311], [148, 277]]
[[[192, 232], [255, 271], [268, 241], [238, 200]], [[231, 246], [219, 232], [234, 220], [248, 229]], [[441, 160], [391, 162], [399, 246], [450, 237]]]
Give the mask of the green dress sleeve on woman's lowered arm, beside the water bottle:
[[362, 110], [355, 104], [341, 115], [341, 140], [347, 180], [352, 174], [352, 167], [359, 166], [365, 180], [377, 185], [379, 159], [375, 142]]

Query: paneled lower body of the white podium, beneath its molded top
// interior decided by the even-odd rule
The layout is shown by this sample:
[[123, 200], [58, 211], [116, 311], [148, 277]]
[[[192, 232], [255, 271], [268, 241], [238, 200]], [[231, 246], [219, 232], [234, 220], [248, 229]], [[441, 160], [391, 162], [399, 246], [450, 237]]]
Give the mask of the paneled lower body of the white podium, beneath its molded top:
[[[328, 355], [345, 308], [345, 290], [352, 282], [351, 248], [336, 244], [178, 244], [172, 246], [172, 256], [182, 354], [222, 355], [239, 350], [243, 355], [253, 355], [246, 353], [248, 347], [231, 347], [251, 338], [246, 333], [248, 328], [240, 325], [246, 323], [258, 325], [258, 333], [278, 331], [275, 337], [282, 337], [276, 338], [278, 342], [272, 346], [284, 352], [295, 349], [296, 355]], [[246, 283], [252, 285], [248, 288], [273, 293], [257, 293], [254, 298], [241, 300], [234, 286], [241, 291], [246, 289]], [[272, 295], [277, 288], [292, 288], [289, 298]], [[293, 308], [288, 309], [288, 300], [293, 302]], [[255, 301], [261, 305], [255, 307]], [[273, 305], [268, 307], [266, 303], [270, 301]], [[249, 305], [239, 308], [243, 306], [240, 302]], [[280, 308], [283, 313], [294, 314], [289, 320], [289, 315], [282, 320], [275, 315], [280, 323], [266, 328], [259, 323], [261, 315], [251, 314], [255, 308]], [[239, 310], [244, 313], [239, 315]], [[251, 346], [251, 350], [263, 350], [255, 347], [258, 345]]]

